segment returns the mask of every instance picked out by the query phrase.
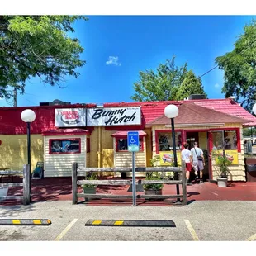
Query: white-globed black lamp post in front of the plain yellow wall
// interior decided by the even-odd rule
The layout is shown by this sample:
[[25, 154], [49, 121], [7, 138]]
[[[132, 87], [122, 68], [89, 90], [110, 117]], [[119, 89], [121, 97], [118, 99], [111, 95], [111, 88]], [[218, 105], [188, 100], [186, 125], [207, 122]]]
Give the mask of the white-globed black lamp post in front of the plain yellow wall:
[[36, 113], [31, 109], [26, 109], [21, 113], [22, 121], [26, 122], [27, 133], [27, 164], [30, 169], [30, 202], [31, 202], [31, 122], [35, 121]]

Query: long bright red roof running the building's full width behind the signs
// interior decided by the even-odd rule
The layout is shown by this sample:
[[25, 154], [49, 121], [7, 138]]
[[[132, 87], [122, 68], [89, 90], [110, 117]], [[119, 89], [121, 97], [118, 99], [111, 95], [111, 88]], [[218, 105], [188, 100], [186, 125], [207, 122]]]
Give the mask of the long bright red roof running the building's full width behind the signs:
[[[145, 124], [149, 124], [156, 118], [164, 115], [164, 108], [169, 104], [180, 105], [182, 103], [194, 102], [198, 106], [206, 107], [229, 114], [236, 117], [241, 117], [249, 121], [244, 126], [256, 126], [256, 118], [248, 111], [240, 107], [232, 99], [219, 100], [192, 100], [192, 101], [165, 101], [165, 102], [118, 102], [106, 103], [104, 107], [141, 107], [141, 126], [119, 126], [116, 130], [143, 130]], [[57, 105], [57, 106], [38, 106], [38, 107], [0, 107], [0, 134], [26, 134], [26, 123], [21, 121], [21, 112], [27, 108], [36, 112], [36, 120], [31, 123], [31, 134], [41, 134], [47, 130], [55, 130], [55, 108], [74, 108], [74, 107], [96, 107], [96, 104], [73, 104], [73, 105]], [[200, 119], [198, 120], [200, 121]], [[83, 127], [86, 130], [93, 130], [93, 127]], [[111, 130], [113, 127], [106, 126], [106, 130]]]

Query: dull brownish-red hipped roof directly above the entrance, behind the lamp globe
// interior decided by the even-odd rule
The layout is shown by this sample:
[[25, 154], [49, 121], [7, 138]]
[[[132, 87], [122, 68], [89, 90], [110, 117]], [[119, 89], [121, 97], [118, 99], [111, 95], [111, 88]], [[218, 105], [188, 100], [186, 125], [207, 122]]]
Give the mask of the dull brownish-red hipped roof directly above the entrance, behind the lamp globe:
[[[209, 119], [211, 116], [211, 119]], [[220, 113], [206, 107], [198, 106], [193, 102], [183, 102], [178, 107], [178, 116], [175, 117], [175, 124], [220, 124], [220, 123], [244, 123], [244, 118]], [[170, 120], [165, 115], [151, 121], [151, 125], [165, 125]]]

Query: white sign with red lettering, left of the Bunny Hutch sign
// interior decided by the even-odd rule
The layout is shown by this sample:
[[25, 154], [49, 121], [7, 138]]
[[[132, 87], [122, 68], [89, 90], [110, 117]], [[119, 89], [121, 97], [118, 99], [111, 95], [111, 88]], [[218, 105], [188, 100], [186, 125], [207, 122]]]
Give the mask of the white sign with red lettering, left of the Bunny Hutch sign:
[[85, 108], [59, 108], [55, 109], [56, 127], [78, 127], [86, 126]]

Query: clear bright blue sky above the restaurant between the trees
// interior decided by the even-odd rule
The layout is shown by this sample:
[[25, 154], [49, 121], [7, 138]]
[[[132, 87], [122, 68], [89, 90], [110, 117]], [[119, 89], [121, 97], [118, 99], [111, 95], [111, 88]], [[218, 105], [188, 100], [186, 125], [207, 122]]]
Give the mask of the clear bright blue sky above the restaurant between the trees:
[[[87, 64], [64, 88], [31, 79], [17, 106], [36, 106], [55, 99], [71, 103], [132, 102], [139, 72], [156, 69], [176, 55], [197, 76], [213, 68], [215, 58], [233, 49], [252, 16], [88, 16], [74, 28]], [[115, 57], [109, 59], [109, 57]], [[118, 60], [116, 59], [118, 58]], [[223, 98], [223, 72], [214, 69], [201, 78], [209, 98]], [[0, 106], [9, 106], [5, 100]]]

